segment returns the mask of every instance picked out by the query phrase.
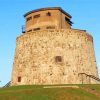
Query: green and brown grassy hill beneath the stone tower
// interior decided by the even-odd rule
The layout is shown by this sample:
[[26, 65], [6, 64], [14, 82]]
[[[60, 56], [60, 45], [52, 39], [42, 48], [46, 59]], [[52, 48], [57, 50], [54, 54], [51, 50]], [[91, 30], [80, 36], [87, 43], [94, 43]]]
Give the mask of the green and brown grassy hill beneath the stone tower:
[[[57, 85], [56, 85], [57, 86]], [[14, 86], [0, 89], [0, 100], [100, 100], [100, 85]], [[46, 88], [44, 88], [46, 87]]]

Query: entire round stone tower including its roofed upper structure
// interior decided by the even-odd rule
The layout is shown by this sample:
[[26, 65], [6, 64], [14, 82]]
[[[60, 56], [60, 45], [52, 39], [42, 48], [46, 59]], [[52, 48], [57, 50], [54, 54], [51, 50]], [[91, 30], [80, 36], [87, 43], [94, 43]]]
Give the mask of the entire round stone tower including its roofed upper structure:
[[24, 15], [23, 34], [17, 37], [12, 85], [97, 83], [93, 38], [72, 29], [71, 15], [60, 7]]

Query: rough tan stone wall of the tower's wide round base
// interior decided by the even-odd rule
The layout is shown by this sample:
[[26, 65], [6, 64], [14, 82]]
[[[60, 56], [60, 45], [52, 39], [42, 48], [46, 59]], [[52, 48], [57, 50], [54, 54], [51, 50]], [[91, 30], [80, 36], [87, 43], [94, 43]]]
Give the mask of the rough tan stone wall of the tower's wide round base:
[[17, 38], [12, 85], [81, 84], [79, 73], [98, 77], [93, 39], [85, 31], [41, 30]]

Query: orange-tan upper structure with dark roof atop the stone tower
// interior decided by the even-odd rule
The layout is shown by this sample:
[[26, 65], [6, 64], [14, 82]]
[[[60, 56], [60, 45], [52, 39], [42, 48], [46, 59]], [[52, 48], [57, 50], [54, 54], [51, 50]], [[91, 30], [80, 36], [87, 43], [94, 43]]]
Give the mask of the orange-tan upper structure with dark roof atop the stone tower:
[[71, 15], [60, 7], [49, 7], [32, 10], [24, 15], [26, 32], [41, 29], [68, 29], [71, 28]]

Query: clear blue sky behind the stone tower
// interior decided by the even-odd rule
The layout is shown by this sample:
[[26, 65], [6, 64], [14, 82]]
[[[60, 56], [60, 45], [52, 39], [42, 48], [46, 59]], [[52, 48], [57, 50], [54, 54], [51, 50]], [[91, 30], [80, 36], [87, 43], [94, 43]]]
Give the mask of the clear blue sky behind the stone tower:
[[62, 7], [72, 15], [73, 28], [93, 36], [100, 76], [100, 0], [0, 0], [0, 86], [11, 80], [16, 37], [25, 24], [23, 15], [44, 7]]

